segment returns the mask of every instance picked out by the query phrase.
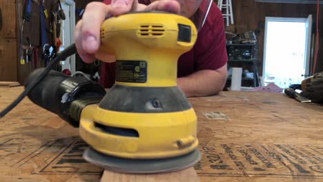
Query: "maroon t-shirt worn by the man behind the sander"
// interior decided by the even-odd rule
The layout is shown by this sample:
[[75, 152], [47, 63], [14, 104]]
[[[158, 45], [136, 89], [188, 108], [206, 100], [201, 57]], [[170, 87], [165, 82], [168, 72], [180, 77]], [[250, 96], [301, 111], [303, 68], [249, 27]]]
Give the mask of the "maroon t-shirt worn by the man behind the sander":
[[[139, 0], [139, 3], [148, 4], [149, 2], [149, 0]], [[104, 0], [104, 3], [110, 4], [110, 0]], [[177, 77], [186, 77], [199, 70], [217, 70], [227, 61], [222, 12], [212, 2], [208, 17], [197, 35], [194, 47], [179, 57]], [[115, 84], [115, 63], [102, 63], [99, 82], [105, 88], [111, 88]]]

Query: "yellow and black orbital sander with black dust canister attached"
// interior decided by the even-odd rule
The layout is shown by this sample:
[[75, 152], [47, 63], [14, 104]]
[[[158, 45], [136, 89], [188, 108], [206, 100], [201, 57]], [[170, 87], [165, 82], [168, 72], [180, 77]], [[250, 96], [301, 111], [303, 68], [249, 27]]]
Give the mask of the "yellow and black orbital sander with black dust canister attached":
[[[197, 163], [197, 117], [177, 88], [177, 59], [193, 48], [194, 23], [177, 14], [135, 12], [104, 21], [100, 36], [100, 50], [117, 60], [109, 92], [86, 77], [40, 69], [26, 81], [26, 89], [34, 84], [28, 97], [79, 126], [90, 145], [84, 158], [108, 170], [169, 172]], [[75, 47], [68, 50], [65, 57]]]

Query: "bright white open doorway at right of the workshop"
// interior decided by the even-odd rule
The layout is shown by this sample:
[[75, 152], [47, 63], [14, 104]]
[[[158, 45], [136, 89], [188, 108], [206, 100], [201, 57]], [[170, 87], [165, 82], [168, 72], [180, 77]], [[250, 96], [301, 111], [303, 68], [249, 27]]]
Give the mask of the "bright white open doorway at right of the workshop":
[[280, 88], [299, 84], [309, 74], [312, 16], [266, 17], [263, 82]]

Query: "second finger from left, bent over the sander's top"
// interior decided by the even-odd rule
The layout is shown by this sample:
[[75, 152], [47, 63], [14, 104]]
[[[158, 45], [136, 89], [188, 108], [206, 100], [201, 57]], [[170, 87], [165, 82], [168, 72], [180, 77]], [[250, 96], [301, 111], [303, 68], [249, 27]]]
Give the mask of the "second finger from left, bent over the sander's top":
[[112, 0], [110, 12], [113, 16], [119, 16], [137, 10], [138, 0]]

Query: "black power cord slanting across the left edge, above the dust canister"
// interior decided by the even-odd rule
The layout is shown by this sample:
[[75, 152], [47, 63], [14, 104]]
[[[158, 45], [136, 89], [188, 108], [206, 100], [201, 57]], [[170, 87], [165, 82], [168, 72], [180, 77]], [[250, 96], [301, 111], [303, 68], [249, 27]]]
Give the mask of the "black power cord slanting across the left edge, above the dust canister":
[[10, 105], [8, 105], [7, 108], [5, 108], [4, 110], [2, 110], [0, 112], [0, 118], [4, 117], [6, 114], [8, 114], [8, 112], [10, 112], [10, 110], [12, 110], [14, 107], [16, 107], [18, 105], [18, 103], [20, 103], [22, 101], [22, 99], [30, 93], [32, 88], [34, 88], [35, 85], [37, 85], [37, 83], [39, 83], [39, 81], [41, 81], [44, 77], [46, 77], [46, 74], [48, 74], [48, 72], [50, 72], [50, 70], [55, 68], [55, 65], [57, 65], [57, 63], [59, 63], [59, 61], [64, 60], [67, 57], [70, 57], [72, 54], [75, 54], [76, 52], [77, 52], [77, 49], [75, 47], [75, 43], [68, 46], [62, 52], [59, 52], [59, 54], [57, 54], [57, 57], [55, 57], [55, 59], [53, 59], [48, 64], [46, 69], [43, 70], [43, 72], [41, 72], [41, 74], [39, 74], [39, 77], [37, 77], [30, 84], [28, 84], [28, 86], [25, 88], [25, 90], [23, 90], [23, 92], [19, 95], [19, 97], [17, 97], [17, 99], [15, 99], [12, 103], [10, 103]]

